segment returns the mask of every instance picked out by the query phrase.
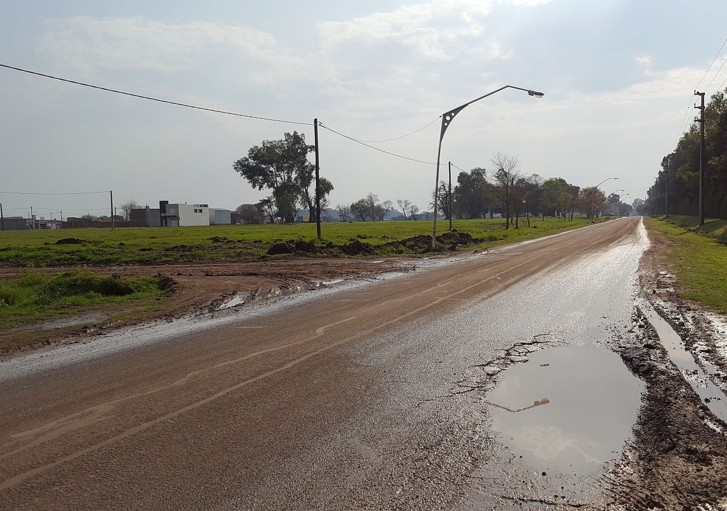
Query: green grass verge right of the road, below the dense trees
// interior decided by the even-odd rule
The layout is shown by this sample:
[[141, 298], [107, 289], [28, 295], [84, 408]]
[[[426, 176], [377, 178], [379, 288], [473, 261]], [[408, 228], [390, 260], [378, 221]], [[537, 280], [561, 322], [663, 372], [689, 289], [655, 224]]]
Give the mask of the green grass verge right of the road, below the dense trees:
[[[666, 262], [678, 278], [680, 294], [727, 313], [727, 246], [720, 244], [720, 235], [715, 234], [720, 230], [720, 223], [724, 226], [727, 222], [710, 220], [698, 230], [675, 225], [677, 222], [688, 225], [692, 218], [696, 217], [670, 217], [669, 222], [646, 219], [646, 222], [649, 228], [672, 241], [673, 248]], [[697, 223], [694, 221], [695, 227]]]

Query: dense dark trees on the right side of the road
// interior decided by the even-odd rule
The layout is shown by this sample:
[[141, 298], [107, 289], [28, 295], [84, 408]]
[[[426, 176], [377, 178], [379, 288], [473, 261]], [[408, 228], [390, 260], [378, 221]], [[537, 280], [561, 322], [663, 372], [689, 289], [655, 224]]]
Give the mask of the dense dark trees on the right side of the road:
[[[727, 97], [712, 95], [704, 108], [704, 216], [727, 219]], [[699, 214], [699, 122], [682, 134], [675, 150], [662, 158], [661, 170], [640, 201], [642, 212], [666, 212], [667, 175], [669, 212]]]

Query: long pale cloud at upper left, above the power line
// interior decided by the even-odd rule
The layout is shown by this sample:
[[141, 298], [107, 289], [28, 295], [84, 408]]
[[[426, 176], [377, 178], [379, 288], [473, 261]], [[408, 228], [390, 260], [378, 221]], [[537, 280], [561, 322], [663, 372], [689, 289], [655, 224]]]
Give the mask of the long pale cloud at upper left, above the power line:
[[198, 68], [219, 53], [230, 67], [241, 62], [262, 65], [249, 68], [249, 81], [273, 80], [266, 72], [270, 69], [293, 78], [326, 79], [331, 69], [319, 55], [297, 56], [270, 33], [244, 25], [82, 16], [48, 23], [39, 50], [52, 55], [63, 68], [174, 73]]

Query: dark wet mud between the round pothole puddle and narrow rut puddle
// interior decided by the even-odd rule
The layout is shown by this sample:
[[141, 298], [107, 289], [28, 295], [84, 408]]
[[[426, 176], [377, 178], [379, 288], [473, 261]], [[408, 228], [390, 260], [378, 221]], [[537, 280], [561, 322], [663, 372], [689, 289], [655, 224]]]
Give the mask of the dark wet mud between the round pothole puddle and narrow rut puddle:
[[727, 504], [726, 427], [702, 402], [640, 310], [616, 348], [646, 383], [627, 446], [604, 480], [613, 510], [716, 510]]

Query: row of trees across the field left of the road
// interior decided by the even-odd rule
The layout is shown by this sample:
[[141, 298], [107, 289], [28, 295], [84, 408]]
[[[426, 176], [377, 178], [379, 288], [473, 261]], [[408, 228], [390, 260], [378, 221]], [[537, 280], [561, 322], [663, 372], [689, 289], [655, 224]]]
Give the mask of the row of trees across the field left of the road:
[[[243, 204], [238, 212], [246, 222], [292, 222], [298, 206], [310, 212], [315, 221], [315, 192], [310, 191], [314, 167], [308, 161], [313, 146], [305, 143], [305, 135], [286, 133], [282, 140], [264, 140], [254, 145], [248, 155], [233, 164], [233, 169], [250, 185], [259, 190], [270, 190], [270, 196], [257, 204]], [[437, 207], [445, 218], [483, 218], [502, 216], [505, 228], [520, 228], [521, 222], [531, 225], [539, 215], [558, 216], [573, 220], [576, 212], [597, 217], [610, 205], [616, 205], [619, 214], [630, 211], [616, 194], [606, 197], [598, 188], [579, 188], [561, 177], [544, 179], [538, 174], [525, 174], [517, 156], [496, 153], [490, 160], [491, 170], [475, 167], [459, 172], [452, 190], [441, 181], [436, 193]], [[321, 212], [329, 206], [329, 193], [334, 189], [326, 178], [320, 180]], [[433, 208], [435, 194], [428, 205]], [[382, 221], [390, 212], [398, 211], [403, 220], [426, 217], [409, 199], [396, 199], [398, 210], [390, 200], [379, 201], [375, 193], [351, 204], [338, 204], [333, 209], [339, 220]]]

